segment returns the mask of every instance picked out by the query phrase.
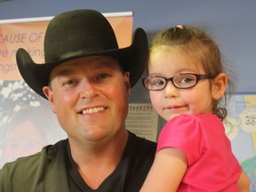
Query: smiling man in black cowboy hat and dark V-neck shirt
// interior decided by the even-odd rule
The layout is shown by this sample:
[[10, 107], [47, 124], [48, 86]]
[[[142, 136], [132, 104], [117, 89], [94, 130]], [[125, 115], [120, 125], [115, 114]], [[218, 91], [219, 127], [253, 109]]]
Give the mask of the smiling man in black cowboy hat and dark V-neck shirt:
[[147, 52], [141, 28], [131, 46], [119, 49], [108, 20], [93, 10], [64, 12], [51, 20], [44, 64], [20, 49], [21, 76], [49, 100], [68, 140], [5, 164], [0, 191], [139, 191], [156, 143], [126, 131], [124, 122]]

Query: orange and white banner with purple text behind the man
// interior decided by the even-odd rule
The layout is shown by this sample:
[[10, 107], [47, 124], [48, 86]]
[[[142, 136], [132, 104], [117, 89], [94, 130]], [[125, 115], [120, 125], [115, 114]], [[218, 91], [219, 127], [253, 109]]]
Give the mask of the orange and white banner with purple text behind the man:
[[[132, 12], [103, 13], [120, 48], [132, 43]], [[67, 138], [47, 100], [20, 76], [16, 52], [22, 47], [44, 63], [44, 34], [52, 17], [0, 20], [0, 167]]]

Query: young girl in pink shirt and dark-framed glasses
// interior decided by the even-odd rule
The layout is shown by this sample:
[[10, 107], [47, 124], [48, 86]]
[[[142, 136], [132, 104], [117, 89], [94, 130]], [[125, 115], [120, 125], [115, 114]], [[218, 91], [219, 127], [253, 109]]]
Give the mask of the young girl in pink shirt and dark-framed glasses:
[[141, 192], [250, 190], [221, 122], [228, 84], [219, 48], [203, 31], [177, 26], [155, 36], [143, 85], [168, 122]]

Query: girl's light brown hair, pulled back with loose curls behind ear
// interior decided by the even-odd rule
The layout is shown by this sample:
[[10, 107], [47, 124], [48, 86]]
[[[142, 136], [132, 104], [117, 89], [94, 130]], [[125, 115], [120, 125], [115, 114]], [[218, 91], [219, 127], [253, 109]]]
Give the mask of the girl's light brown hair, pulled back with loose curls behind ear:
[[[161, 46], [177, 47], [188, 56], [199, 60], [206, 75], [218, 76], [222, 72], [225, 73], [218, 45], [202, 30], [180, 25], [175, 28], [164, 29], [153, 38], [149, 54]], [[228, 76], [228, 92], [233, 92], [233, 89], [235, 86]], [[215, 100], [212, 103], [213, 113], [219, 116], [221, 120], [227, 116], [227, 92], [223, 98], [224, 107], [220, 107], [220, 100]]]

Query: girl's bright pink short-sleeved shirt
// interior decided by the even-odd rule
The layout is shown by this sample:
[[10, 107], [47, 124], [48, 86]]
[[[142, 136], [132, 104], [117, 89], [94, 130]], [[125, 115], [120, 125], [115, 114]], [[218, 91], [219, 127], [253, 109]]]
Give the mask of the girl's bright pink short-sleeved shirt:
[[242, 168], [217, 116], [172, 118], [160, 132], [156, 152], [161, 148], [179, 148], [187, 156], [188, 169], [178, 191], [239, 191]]

